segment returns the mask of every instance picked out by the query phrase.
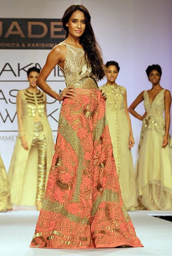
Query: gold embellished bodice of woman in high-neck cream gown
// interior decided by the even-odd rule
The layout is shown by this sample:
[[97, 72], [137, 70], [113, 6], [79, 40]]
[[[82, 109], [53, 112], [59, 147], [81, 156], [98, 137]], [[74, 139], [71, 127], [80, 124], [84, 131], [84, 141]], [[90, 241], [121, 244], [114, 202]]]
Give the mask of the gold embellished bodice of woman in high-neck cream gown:
[[118, 111], [125, 108], [125, 105], [124, 105], [125, 87], [117, 84], [115, 85], [105, 84], [101, 87], [101, 89], [107, 96], [106, 106], [110, 110]]

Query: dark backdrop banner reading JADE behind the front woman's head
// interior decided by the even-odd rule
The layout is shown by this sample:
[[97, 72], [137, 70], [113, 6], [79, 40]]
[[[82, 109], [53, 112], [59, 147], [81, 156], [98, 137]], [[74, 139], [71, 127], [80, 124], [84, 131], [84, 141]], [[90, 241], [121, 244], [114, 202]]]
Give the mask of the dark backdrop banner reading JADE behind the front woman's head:
[[0, 19], [0, 49], [52, 49], [65, 35], [61, 19]]

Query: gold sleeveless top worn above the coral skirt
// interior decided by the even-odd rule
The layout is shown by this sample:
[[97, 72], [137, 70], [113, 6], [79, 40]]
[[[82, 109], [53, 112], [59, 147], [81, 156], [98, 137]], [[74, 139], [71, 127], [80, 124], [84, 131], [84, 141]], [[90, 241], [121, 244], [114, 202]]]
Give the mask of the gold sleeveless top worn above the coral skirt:
[[85, 51], [68, 43], [60, 44], [66, 46], [64, 69], [60, 67], [64, 74], [66, 87], [99, 89], [97, 77], [91, 74], [91, 66], [85, 57]]

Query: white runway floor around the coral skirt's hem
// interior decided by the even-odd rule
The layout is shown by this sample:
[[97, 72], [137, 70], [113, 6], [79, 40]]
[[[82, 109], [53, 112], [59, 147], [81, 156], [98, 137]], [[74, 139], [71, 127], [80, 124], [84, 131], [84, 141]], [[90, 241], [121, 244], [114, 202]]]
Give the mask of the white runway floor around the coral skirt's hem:
[[135, 211], [129, 213], [143, 248], [38, 249], [28, 247], [38, 211], [13, 210], [0, 213], [0, 256], [172, 256], [172, 222], [152, 217], [171, 215], [172, 211]]

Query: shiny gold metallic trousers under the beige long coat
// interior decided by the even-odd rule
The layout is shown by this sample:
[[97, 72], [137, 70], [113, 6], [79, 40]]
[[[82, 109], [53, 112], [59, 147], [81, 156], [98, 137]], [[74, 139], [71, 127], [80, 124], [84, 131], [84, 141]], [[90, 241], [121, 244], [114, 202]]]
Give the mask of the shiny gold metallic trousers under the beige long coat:
[[38, 184], [36, 191], [36, 201], [42, 201], [45, 195], [45, 180], [47, 172], [47, 144], [41, 122], [34, 123], [34, 133], [32, 147], [38, 145]]

